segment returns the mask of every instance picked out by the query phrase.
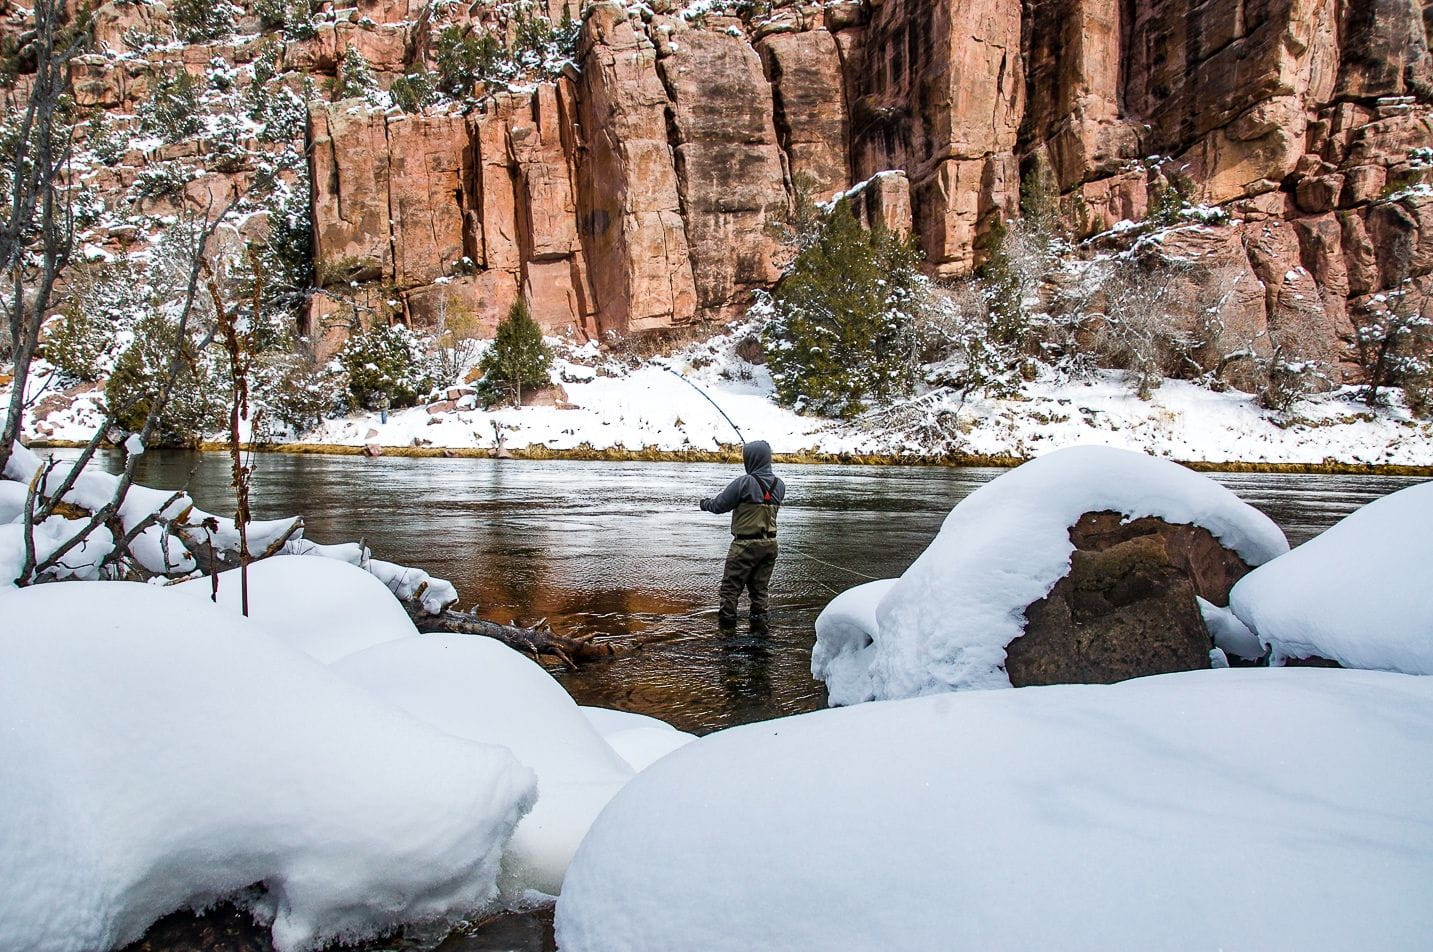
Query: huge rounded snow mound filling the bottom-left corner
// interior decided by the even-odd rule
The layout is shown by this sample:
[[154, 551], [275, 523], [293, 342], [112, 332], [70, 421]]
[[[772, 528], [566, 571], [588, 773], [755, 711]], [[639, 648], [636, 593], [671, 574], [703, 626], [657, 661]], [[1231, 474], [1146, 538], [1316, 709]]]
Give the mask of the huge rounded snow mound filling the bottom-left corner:
[[262, 627], [130, 582], [0, 594], [0, 936], [107, 949], [245, 892], [281, 952], [481, 912], [533, 776]]

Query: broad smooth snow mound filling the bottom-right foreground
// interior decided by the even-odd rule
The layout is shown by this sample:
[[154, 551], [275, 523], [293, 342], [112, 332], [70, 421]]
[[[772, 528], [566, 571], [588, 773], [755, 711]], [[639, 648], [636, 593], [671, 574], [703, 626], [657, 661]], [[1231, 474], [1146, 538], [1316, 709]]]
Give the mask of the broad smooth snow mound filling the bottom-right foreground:
[[1433, 935], [1430, 789], [1433, 680], [1396, 674], [820, 711], [638, 774], [577, 850], [557, 942], [1412, 952]]

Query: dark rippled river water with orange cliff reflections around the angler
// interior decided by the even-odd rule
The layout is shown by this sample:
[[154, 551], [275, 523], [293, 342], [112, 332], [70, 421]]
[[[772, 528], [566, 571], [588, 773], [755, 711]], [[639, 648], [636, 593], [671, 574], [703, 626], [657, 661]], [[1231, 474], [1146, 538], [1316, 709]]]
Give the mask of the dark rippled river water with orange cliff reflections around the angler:
[[[999, 469], [788, 466], [767, 638], [716, 629], [727, 518], [701, 512], [739, 473], [698, 463], [257, 457], [252, 509], [302, 513], [317, 542], [363, 539], [377, 558], [453, 581], [494, 621], [599, 632], [641, 651], [555, 677], [580, 704], [708, 733], [825, 705], [811, 680], [813, 622], [837, 592], [900, 575], [941, 519]], [[119, 460], [106, 460], [110, 467]], [[192, 473], [192, 476], [191, 476]], [[228, 457], [150, 452], [138, 479], [188, 479], [198, 505], [232, 510]], [[1217, 475], [1297, 545], [1417, 479]], [[745, 608], [745, 605], [744, 605]]]

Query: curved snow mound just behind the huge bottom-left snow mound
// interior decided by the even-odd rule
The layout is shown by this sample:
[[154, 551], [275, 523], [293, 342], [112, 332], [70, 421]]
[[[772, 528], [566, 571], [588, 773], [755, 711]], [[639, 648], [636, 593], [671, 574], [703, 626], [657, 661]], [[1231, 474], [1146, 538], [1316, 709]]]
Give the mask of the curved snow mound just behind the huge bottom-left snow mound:
[[503, 895], [556, 895], [577, 843], [632, 768], [540, 665], [490, 638], [424, 635], [332, 665], [457, 737], [502, 744], [537, 773], [537, 803], [503, 857]]

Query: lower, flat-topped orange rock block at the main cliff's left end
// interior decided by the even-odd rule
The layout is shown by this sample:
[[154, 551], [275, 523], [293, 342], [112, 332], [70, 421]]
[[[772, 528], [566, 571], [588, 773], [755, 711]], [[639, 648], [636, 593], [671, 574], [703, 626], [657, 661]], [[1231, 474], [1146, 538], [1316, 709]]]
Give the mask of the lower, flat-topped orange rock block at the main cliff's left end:
[[417, 325], [463, 315], [486, 333], [522, 294], [547, 330], [595, 334], [565, 109], [563, 82], [469, 118], [315, 106], [320, 282], [381, 281]]

